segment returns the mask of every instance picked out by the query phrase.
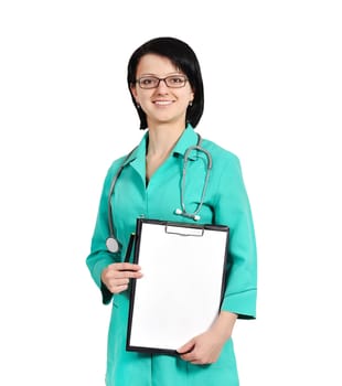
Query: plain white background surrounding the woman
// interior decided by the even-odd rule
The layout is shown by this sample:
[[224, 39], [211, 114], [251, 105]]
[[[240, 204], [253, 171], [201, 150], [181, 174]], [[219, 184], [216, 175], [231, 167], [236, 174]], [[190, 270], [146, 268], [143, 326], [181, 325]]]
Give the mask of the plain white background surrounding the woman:
[[1, 385], [104, 385], [85, 258], [107, 168], [142, 136], [126, 65], [159, 35], [196, 52], [197, 131], [239, 157], [253, 206], [242, 386], [342, 385], [341, 20], [330, 0], [1, 1]]

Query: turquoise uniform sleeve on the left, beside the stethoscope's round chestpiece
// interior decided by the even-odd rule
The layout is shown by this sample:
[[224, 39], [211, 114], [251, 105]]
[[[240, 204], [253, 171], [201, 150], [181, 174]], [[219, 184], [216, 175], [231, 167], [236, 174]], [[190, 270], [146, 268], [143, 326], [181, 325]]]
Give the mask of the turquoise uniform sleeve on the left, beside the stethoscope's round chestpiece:
[[111, 179], [115, 175], [115, 165], [110, 168], [104, 182], [103, 192], [99, 202], [95, 229], [92, 238], [90, 254], [86, 258], [86, 265], [96, 286], [101, 291], [103, 303], [108, 304], [111, 300], [111, 292], [101, 282], [101, 271], [113, 262], [120, 260], [119, 253], [113, 254], [107, 250], [106, 239], [109, 236], [108, 226], [108, 194]]

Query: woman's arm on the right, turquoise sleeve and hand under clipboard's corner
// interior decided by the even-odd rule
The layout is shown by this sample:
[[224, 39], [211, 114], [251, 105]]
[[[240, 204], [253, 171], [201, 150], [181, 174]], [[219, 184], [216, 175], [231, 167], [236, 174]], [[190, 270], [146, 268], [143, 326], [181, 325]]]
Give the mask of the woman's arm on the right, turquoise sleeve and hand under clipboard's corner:
[[193, 364], [216, 362], [236, 319], [254, 319], [256, 311], [255, 235], [238, 159], [231, 156], [220, 170], [214, 213], [216, 224], [229, 227], [227, 280], [221, 312], [212, 328], [178, 350]]

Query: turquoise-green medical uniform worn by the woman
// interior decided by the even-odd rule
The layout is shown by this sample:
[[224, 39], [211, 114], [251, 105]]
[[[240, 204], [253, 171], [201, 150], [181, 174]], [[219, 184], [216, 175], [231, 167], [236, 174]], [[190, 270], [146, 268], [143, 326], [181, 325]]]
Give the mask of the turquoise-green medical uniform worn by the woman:
[[[129, 236], [136, 229], [137, 217], [192, 222], [174, 212], [181, 207], [180, 186], [184, 153], [189, 147], [196, 144], [197, 135], [188, 125], [170, 157], [154, 172], [148, 185], [147, 142], [148, 132], [126, 160], [110, 199], [115, 236], [120, 244], [120, 251], [113, 254], [106, 249], [106, 239], [109, 235], [107, 200], [111, 180], [125, 157], [111, 164], [105, 179], [92, 250], [86, 261], [93, 279], [101, 290], [103, 302], [113, 304], [106, 385], [237, 386], [238, 375], [232, 339], [225, 343], [217, 362], [210, 365], [192, 365], [173, 355], [126, 351], [129, 291], [111, 296], [100, 281], [103, 269], [109, 264], [124, 260]], [[236, 156], [212, 141], [203, 139], [202, 147], [211, 153], [213, 168], [200, 213], [201, 219], [197, 223], [229, 227], [228, 276], [222, 310], [235, 312], [239, 318], [254, 319], [257, 292], [256, 243], [239, 161]], [[194, 212], [200, 202], [206, 165], [204, 153], [191, 152], [184, 190], [184, 203], [189, 213]], [[210, 265], [210, 256], [207, 259]], [[177, 278], [174, 282], [177, 285]], [[191, 337], [193, 336], [189, 336]]]

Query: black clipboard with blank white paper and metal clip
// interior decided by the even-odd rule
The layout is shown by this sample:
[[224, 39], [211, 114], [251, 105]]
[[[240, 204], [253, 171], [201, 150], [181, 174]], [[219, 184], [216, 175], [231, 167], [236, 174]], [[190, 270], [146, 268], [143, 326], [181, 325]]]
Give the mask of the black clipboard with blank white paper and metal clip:
[[127, 351], [177, 355], [221, 308], [229, 228], [138, 218]]

